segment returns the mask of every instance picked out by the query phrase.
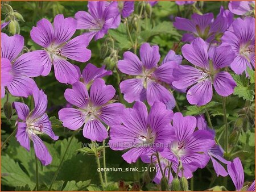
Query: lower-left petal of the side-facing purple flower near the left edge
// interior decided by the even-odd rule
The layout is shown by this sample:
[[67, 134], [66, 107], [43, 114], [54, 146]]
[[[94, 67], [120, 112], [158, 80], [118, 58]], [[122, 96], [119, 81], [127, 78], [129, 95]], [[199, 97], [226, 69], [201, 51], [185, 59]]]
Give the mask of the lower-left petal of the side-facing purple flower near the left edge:
[[16, 133], [16, 139], [19, 141], [19, 144], [22, 145], [27, 151], [30, 151], [30, 138], [26, 132], [27, 124], [19, 122], [18, 130]]

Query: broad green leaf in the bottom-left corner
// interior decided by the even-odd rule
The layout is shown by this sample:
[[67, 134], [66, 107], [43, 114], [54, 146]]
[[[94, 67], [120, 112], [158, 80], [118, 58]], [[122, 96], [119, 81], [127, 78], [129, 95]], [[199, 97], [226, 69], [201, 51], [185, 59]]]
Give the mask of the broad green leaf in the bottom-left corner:
[[28, 185], [31, 189], [35, 187], [35, 183], [23, 172], [18, 162], [15, 162], [8, 155], [2, 156], [1, 168], [3, 185], [12, 187]]

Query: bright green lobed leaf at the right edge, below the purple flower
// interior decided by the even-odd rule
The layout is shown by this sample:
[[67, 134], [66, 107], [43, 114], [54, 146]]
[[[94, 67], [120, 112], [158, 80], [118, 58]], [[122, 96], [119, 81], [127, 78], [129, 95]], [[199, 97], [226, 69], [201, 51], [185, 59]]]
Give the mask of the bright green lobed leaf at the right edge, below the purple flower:
[[243, 73], [240, 76], [234, 74], [233, 78], [237, 83], [237, 86], [234, 88], [233, 94], [238, 95], [238, 97], [241, 97], [244, 100], [253, 101], [253, 99], [254, 99], [254, 84], [249, 85], [249, 79], [246, 78], [246, 74]]

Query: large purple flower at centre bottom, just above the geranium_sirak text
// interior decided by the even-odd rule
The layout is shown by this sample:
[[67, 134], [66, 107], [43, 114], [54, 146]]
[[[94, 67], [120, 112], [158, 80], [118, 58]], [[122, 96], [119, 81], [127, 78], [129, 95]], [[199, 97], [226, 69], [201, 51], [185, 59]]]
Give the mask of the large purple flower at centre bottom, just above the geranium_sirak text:
[[110, 127], [109, 147], [130, 149], [122, 155], [129, 164], [152, 151], [163, 151], [172, 140], [172, 114], [161, 102], [155, 102], [149, 114], [143, 102], [136, 102], [133, 108], [123, 110], [121, 125]]

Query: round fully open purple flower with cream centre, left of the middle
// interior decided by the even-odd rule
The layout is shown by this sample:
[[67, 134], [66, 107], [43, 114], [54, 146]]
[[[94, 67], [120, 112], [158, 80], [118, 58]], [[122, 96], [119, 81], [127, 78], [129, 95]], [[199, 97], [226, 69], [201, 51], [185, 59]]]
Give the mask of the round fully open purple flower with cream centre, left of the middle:
[[90, 87], [90, 96], [82, 82], [73, 84], [73, 89], [65, 90], [65, 99], [77, 108], [63, 108], [59, 111], [59, 119], [63, 126], [70, 130], [78, 130], [84, 125], [84, 137], [92, 141], [103, 141], [108, 137], [104, 124], [119, 124], [119, 114], [123, 110], [121, 103], [109, 104], [114, 97], [112, 85], [105, 85], [104, 80], [97, 79]]

